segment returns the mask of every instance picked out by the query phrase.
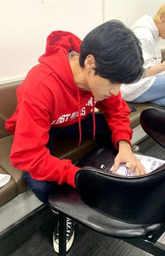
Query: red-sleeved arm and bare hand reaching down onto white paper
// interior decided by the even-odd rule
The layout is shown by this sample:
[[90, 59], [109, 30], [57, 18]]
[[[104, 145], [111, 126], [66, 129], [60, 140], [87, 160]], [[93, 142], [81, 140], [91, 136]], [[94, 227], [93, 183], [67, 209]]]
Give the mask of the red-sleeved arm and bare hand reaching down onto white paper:
[[119, 150], [115, 157], [113, 171], [115, 172], [120, 163], [131, 163], [130, 170], [135, 171], [137, 175], [145, 174], [145, 168], [141, 162], [131, 151], [131, 135], [129, 114], [131, 114], [129, 107], [121, 95], [113, 96], [108, 100], [104, 100], [96, 105], [101, 111], [112, 131], [112, 140], [115, 147]]

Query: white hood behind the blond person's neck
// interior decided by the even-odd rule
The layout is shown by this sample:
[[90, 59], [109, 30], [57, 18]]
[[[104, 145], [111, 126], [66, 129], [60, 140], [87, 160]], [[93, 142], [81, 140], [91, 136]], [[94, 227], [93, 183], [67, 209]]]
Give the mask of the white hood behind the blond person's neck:
[[131, 27], [131, 29], [135, 32], [136, 34], [136, 29], [141, 30], [143, 32], [143, 29], [148, 29], [149, 32], [152, 33], [152, 36], [155, 39], [159, 38], [159, 31], [155, 25], [154, 20], [148, 15], [143, 15], [141, 18], [139, 18], [135, 24], [133, 25], [133, 27]]

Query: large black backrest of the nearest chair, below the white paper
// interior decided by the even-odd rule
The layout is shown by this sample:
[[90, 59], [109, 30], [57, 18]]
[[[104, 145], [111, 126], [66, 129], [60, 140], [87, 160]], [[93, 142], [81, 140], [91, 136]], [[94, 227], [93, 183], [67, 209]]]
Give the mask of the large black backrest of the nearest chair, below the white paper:
[[76, 187], [84, 203], [116, 220], [155, 224], [165, 217], [165, 164], [134, 177], [84, 167], [76, 174]]

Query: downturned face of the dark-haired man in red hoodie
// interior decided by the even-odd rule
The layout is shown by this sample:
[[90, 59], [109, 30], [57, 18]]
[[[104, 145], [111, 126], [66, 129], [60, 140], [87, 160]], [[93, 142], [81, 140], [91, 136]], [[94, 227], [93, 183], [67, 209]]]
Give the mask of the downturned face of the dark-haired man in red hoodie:
[[94, 75], [93, 69], [87, 75], [87, 84], [95, 99], [99, 101], [120, 93], [121, 83], [111, 83], [108, 79]]

